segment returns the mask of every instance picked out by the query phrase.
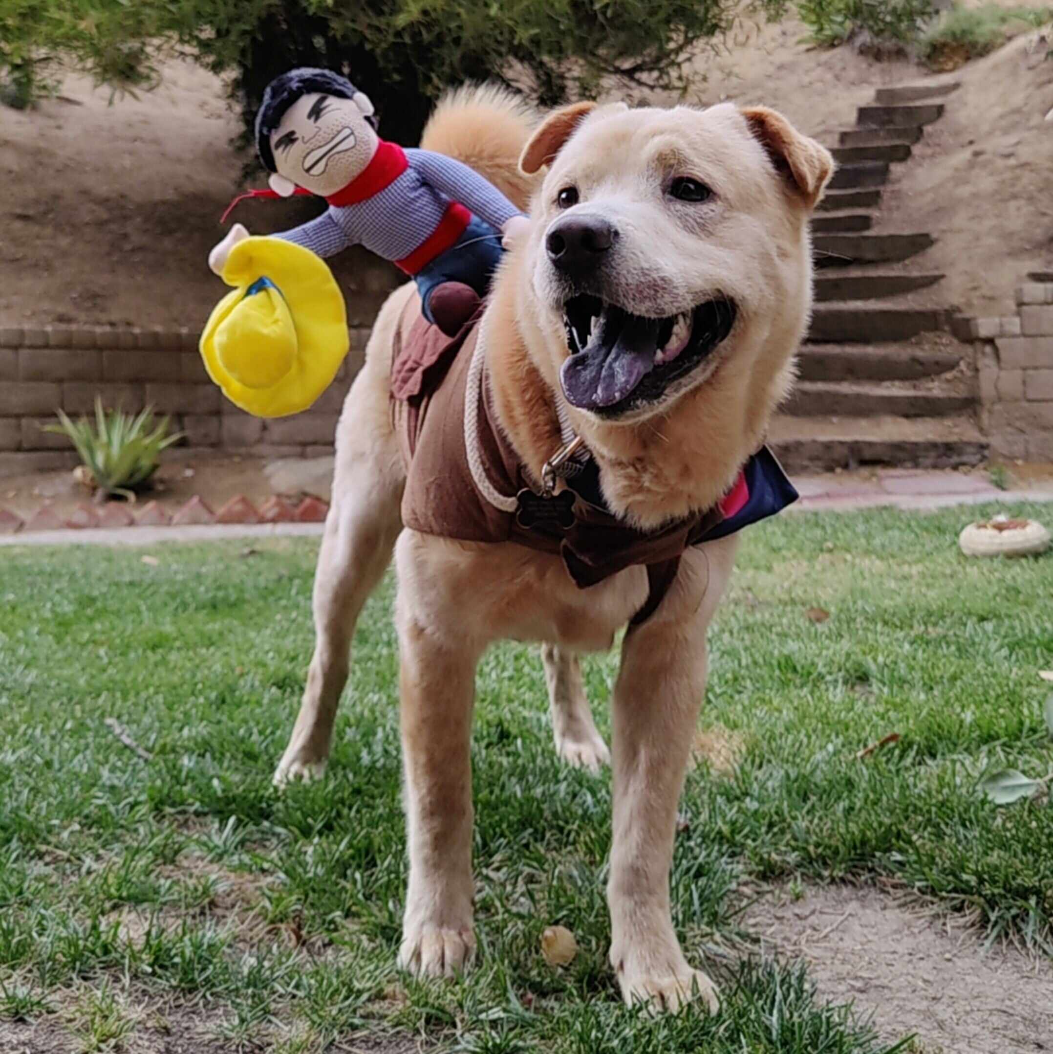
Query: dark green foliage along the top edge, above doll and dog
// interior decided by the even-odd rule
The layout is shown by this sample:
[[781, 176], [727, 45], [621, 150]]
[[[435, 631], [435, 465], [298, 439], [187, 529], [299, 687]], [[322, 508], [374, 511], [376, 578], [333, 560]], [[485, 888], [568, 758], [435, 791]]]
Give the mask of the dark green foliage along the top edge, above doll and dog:
[[464, 81], [512, 82], [542, 105], [604, 80], [683, 89], [700, 45], [786, 2], [0, 0], [0, 67], [62, 56], [127, 90], [151, 82], [159, 48], [179, 46], [233, 74], [247, 128], [273, 77], [324, 66], [373, 98], [383, 135], [412, 143], [438, 95]]

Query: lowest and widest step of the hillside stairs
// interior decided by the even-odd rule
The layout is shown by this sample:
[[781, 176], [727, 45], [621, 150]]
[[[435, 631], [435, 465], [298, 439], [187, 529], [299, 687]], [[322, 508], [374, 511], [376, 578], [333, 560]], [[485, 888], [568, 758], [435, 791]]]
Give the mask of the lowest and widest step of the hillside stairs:
[[780, 414], [772, 422], [769, 442], [791, 473], [867, 465], [957, 468], [988, 458], [988, 444], [968, 415], [824, 418]]

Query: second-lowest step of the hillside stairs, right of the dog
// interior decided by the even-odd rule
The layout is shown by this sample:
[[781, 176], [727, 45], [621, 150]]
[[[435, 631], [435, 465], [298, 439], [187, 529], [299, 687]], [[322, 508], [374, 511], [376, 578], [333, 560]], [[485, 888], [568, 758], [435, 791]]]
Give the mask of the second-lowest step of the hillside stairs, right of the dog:
[[780, 410], [790, 417], [950, 417], [976, 406], [974, 392], [929, 384], [918, 388], [907, 380], [804, 380]]

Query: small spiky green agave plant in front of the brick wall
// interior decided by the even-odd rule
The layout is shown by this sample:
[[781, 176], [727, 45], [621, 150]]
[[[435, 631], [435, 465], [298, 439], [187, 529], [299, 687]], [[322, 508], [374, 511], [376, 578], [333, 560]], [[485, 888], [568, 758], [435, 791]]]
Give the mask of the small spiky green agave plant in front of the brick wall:
[[151, 407], [133, 415], [123, 410], [103, 410], [98, 398], [94, 422], [87, 417], [71, 421], [61, 410], [58, 415], [59, 423], [45, 425], [44, 431], [69, 436], [97, 488], [97, 502], [104, 502], [111, 494], [135, 501], [136, 491], [145, 487], [157, 471], [161, 451], [183, 434], [168, 435], [168, 418], [155, 424]]

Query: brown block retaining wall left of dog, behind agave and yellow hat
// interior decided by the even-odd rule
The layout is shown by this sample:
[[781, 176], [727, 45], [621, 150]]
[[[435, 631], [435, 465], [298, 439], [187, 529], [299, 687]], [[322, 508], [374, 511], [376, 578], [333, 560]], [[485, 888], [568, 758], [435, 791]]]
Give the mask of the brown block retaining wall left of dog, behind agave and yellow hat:
[[351, 351], [318, 402], [293, 417], [261, 421], [239, 410], [208, 379], [199, 334], [190, 329], [48, 326], [0, 329], [0, 475], [77, 464], [69, 441], [41, 430], [61, 407], [90, 413], [151, 405], [186, 433], [168, 456], [229, 451], [263, 456], [331, 453], [337, 417], [362, 363], [367, 328], [351, 330]]

